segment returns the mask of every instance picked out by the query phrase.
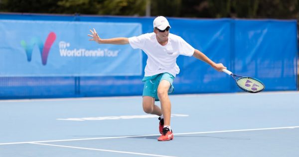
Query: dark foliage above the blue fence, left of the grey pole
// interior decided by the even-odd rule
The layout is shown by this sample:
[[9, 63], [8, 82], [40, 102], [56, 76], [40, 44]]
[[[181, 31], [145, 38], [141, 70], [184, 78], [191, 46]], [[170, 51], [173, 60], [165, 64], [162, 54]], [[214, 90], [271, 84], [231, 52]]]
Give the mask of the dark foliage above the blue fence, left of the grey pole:
[[0, 0], [0, 11], [144, 16], [146, 0]]

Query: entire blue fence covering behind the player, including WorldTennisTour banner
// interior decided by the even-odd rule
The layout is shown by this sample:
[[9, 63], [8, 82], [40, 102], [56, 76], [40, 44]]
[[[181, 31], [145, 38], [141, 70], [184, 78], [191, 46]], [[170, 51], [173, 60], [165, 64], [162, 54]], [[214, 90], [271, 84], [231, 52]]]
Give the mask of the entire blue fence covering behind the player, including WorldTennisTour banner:
[[[146, 54], [97, 44], [87, 34], [92, 28], [102, 38], [150, 33], [153, 19], [0, 13], [0, 99], [142, 95]], [[167, 19], [171, 33], [235, 74], [261, 80], [265, 91], [298, 90], [296, 20]], [[243, 92], [194, 57], [179, 56], [177, 65], [173, 94]]]

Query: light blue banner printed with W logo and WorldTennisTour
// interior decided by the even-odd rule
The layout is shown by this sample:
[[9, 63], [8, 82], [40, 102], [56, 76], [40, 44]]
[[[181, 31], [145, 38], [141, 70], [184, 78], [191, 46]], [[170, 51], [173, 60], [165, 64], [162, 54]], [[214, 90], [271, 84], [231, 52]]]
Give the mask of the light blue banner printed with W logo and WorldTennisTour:
[[142, 51], [89, 41], [142, 33], [140, 23], [0, 20], [0, 76], [138, 76]]

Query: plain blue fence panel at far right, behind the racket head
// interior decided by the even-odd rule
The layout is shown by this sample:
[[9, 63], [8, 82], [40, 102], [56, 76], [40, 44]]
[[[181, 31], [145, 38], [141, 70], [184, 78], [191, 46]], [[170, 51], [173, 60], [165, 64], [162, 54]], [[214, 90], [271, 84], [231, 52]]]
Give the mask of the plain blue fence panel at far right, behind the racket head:
[[[235, 20], [234, 72], [256, 77], [266, 90], [296, 90], [295, 20]], [[237, 88], [237, 87], [235, 87]]]

